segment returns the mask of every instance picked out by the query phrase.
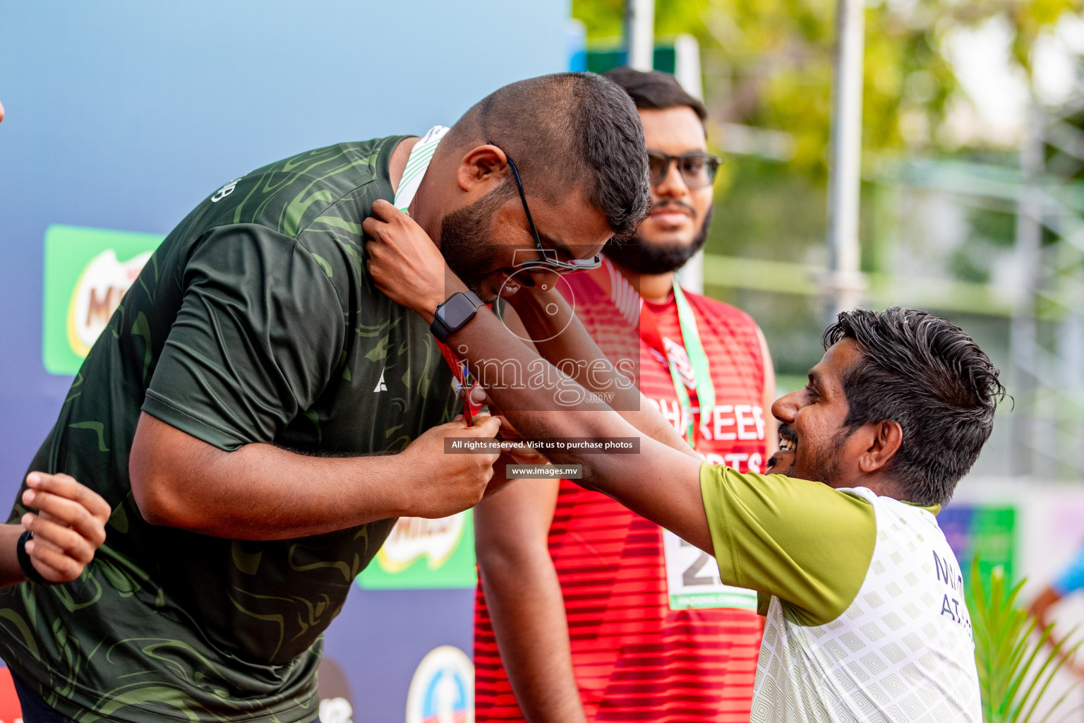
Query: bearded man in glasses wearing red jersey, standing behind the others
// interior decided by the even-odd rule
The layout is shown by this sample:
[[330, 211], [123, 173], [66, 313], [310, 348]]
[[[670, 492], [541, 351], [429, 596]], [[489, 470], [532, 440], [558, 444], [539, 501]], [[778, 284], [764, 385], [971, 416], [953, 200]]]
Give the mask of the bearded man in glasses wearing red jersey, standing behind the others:
[[[713, 464], [763, 472], [776, 437], [764, 338], [674, 276], [711, 219], [707, 113], [672, 76], [607, 75], [644, 125], [651, 215], [636, 238], [607, 245], [602, 268], [558, 288], [689, 444]], [[757, 596], [723, 585], [706, 553], [569, 480], [516, 480], [475, 515], [479, 723], [749, 720]]]

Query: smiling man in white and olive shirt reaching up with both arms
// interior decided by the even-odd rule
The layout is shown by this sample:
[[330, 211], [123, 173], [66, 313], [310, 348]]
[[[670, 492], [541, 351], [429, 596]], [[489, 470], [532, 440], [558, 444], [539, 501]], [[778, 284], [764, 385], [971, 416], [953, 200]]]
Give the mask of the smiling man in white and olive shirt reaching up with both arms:
[[[409, 219], [375, 212], [366, 231], [376, 284], [427, 321], [465, 288], [453, 276], [442, 285], [440, 254]], [[911, 309], [840, 314], [809, 385], [772, 409], [783, 449], [771, 474], [741, 475], [696, 459], [650, 405], [615, 412], [634, 409], [617, 372], [599, 372], [604, 358], [571, 309], [553, 283], [537, 281], [511, 295], [512, 307], [544, 340], [539, 353], [585, 362], [562, 369], [595, 393], [570, 409], [559, 396], [568, 379], [556, 373], [491, 386], [505, 434], [638, 439], [637, 454], [551, 446], [546, 456], [582, 465], [582, 485], [713, 554], [722, 582], [758, 591], [767, 623], [752, 721], [980, 723], [963, 580], [934, 516], [978, 457], [1004, 395], [970, 337]], [[473, 369], [496, 354], [524, 369], [540, 363], [486, 309], [457, 320], [450, 338]]]

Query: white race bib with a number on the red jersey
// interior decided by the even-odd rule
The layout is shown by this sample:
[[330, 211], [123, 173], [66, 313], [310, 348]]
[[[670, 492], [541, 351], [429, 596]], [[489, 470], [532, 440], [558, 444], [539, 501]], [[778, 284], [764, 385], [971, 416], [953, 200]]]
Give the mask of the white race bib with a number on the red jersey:
[[700, 607], [757, 609], [756, 591], [723, 584], [715, 558], [670, 530], [662, 530], [662, 552], [667, 558], [671, 610]]

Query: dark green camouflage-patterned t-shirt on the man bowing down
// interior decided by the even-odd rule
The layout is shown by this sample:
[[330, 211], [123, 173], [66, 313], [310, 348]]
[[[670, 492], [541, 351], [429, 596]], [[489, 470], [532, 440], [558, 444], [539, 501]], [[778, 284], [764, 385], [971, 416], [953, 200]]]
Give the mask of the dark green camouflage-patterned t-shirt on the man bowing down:
[[141, 410], [223, 450], [312, 454], [399, 451], [451, 418], [436, 340], [364, 264], [361, 221], [392, 198], [400, 140], [310, 151], [219, 189], [88, 356], [30, 468], [102, 494], [107, 540], [73, 583], [0, 593], [0, 653], [62, 713], [315, 718], [321, 633], [395, 520], [271, 542], [156, 527], [132, 499], [128, 456]]

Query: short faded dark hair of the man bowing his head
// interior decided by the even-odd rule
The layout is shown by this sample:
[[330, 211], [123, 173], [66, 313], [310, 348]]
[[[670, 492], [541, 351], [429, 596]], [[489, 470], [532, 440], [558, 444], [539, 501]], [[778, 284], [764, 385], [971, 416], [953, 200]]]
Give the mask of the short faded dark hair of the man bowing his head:
[[[451, 147], [496, 144], [528, 193], [559, 201], [582, 188], [616, 236], [633, 233], [650, 208], [644, 127], [628, 93], [601, 75], [555, 73], [499, 88], [447, 140]], [[509, 183], [503, 192], [511, 196]]]

